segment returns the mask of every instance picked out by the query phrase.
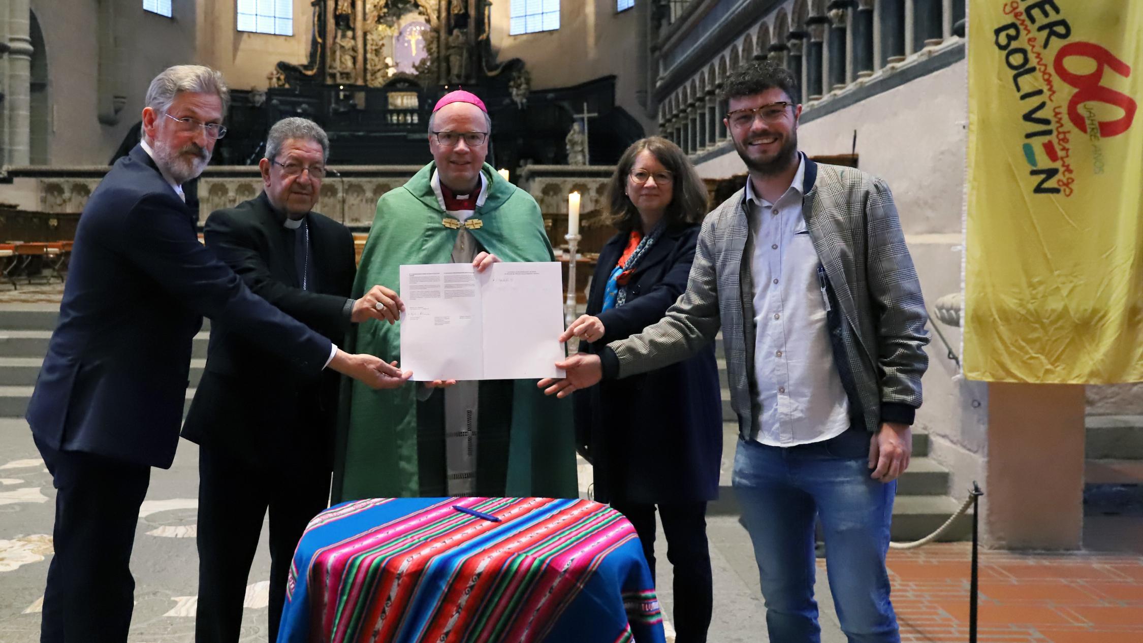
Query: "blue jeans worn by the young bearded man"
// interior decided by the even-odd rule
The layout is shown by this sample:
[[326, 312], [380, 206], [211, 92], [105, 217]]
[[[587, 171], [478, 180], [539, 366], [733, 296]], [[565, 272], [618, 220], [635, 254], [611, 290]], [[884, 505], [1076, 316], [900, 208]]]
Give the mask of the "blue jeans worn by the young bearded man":
[[870, 477], [869, 441], [864, 431], [790, 448], [738, 441], [734, 491], [754, 545], [770, 641], [821, 641], [815, 516], [822, 520], [830, 592], [848, 641], [901, 641], [885, 569], [897, 483]]

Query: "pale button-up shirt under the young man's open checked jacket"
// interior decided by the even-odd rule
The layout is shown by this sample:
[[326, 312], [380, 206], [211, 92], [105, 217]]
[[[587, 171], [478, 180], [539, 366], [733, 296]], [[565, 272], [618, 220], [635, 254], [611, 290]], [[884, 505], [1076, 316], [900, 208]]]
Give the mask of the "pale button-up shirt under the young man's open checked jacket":
[[833, 362], [821, 262], [801, 212], [806, 159], [775, 202], [746, 180], [754, 242], [754, 378], [761, 403], [757, 440], [772, 447], [821, 442], [849, 428], [849, 400]]

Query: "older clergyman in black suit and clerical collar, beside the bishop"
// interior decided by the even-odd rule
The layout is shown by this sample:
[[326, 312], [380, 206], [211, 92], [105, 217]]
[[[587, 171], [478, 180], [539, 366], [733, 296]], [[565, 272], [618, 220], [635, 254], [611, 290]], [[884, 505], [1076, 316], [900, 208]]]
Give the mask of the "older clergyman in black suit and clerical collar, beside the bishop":
[[[328, 155], [317, 123], [279, 121], [259, 162], [265, 191], [211, 214], [205, 235], [255, 295], [341, 341], [353, 322], [395, 320], [400, 299], [381, 286], [349, 297], [353, 235], [312, 211]], [[294, 548], [329, 499], [337, 385], [331, 373], [290, 370], [224, 322], [211, 328], [206, 372], [183, 425], [183, 437], [201, 445], [198, 643], [238, 641], [267, 508], [270, 641], [277, 640]]]

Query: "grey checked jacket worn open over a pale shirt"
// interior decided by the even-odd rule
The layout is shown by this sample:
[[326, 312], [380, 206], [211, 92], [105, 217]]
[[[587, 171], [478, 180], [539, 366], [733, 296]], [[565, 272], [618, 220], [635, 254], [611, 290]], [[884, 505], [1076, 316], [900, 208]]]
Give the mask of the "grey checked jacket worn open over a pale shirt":
[[[928, 315], [888, 185], [853, 168], [806, 159], [802, 216], [825, 272], [834, 365], [855, 420], [912, 424], [921, 405]], [[714, 340], [726, 352], [730, 404], [752, 440], [760, 407], [754, 383], [753, 243], [745, 190], [703, 220], [687, 291], [639, 335], [608, 344], [605, 378], [685, 360]], [[860, 413], [860, 418], [857, 418]]]

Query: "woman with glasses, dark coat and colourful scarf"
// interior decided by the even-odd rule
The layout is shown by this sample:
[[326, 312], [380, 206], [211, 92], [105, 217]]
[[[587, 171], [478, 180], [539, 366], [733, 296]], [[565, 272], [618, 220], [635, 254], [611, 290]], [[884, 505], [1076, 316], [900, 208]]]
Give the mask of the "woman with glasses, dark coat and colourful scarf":
[[[568, 329], [586, 353], [638, 335], [686, 291], [706, 214], [702, 180], [665, 138], [632, 144], [608, 187], [620, 233], [599, 254], [588, 314]], [[596, 499], [631, 521], [652, 573], [658, 508], [674, 565], [676, 641], [706, 641], [713, 602], [706, 503], [718, 496], [722, 456], [713, 345], [685, 362], [576, 391], [575, 416]]]

